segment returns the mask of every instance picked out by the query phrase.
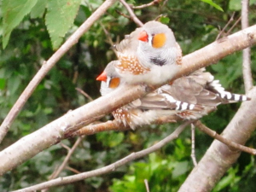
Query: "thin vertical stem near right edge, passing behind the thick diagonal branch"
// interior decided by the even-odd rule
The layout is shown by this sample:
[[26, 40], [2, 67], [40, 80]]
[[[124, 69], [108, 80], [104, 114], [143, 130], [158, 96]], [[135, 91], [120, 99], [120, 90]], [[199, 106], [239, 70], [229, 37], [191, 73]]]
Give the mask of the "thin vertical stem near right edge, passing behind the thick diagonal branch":
[[[249, 0], [241, 1], [241, 29], [245, 29], [249, 26], [248, 12], [249, 12]], [[245, 86], [245, 92], [247, 93], [253, 87], [253, 78], [251, 70], [251, 48], [242, 50], [242, 73]]]

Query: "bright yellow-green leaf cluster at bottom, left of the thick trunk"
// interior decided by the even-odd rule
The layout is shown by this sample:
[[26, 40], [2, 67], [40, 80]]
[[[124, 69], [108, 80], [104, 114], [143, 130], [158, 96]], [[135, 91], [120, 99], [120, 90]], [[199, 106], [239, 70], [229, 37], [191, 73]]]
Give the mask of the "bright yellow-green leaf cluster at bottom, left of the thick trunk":
[[[188, 159], [189, 144], [178, 139], [167, 148], [174, 148], [172, 154], [149, 154], [148, 160], [134, 163], [130, 172], [122, 180], [113, 179], [113, 192], [146, 191], [144, 179], [147, 179], [150, 191], [177, 191], [191, 169]], [[183, 153], [181, 154], [181, 150]]]

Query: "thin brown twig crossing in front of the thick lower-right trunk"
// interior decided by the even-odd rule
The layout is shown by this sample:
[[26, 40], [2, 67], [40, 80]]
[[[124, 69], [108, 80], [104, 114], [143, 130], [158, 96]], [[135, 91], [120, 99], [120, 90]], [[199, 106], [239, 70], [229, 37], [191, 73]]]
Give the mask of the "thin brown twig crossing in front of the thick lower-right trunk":
[[239, 143], [232, 142], [229, 139], [226, 139], [226, 138], [218, 135], [218, 133], [216, 131], [212, 131], [206, 125], [203, 125], [200, 120], [196, 121], [194, 124], [200, 131], [207, 133], [207, 135], [209, 135], [210, 137], [217, 139], [219, 142], [226, 144], [230, 148], [236, 148], [236, 149], [246, 152], [248, 154], [256, 155], [256, 149], [248, 148], [246, 146], [243, 146]]

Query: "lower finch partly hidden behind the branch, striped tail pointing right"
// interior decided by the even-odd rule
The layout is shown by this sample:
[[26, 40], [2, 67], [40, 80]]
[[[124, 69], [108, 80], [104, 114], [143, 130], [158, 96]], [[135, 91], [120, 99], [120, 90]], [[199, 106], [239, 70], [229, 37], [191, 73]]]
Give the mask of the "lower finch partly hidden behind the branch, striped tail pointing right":
[[[127, 83], [115, 68], [118, 62], [110, 62], [97, 78], [102, 81], [102, 96]], [[137, 126], [150, 125], [156, 119], [173, 115], [182, 119], [199, 119], [219, 104], [248, 100], [247, 96], [225, 91], [218, 80], [202, 68], [114, 110], [113, 116], [134, 130]]]

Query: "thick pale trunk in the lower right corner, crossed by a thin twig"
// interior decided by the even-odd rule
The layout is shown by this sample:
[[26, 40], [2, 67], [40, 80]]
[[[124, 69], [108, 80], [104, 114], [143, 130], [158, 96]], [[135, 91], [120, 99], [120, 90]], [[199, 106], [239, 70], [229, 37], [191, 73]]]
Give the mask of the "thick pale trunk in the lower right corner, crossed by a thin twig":
[[[241, 108], [222, 133], [224, 138], [241, 145], [247, 142], [256, 126], [256, 87], [249, 90], [248, 96], [252, 100], [241, 104]], [[211, 191], [230, 166], [236, 162], [240, 153], [240, 150], [214, 140], [178, 191]]]

